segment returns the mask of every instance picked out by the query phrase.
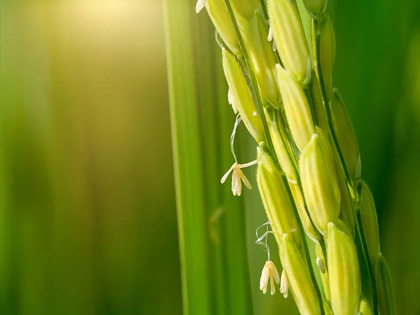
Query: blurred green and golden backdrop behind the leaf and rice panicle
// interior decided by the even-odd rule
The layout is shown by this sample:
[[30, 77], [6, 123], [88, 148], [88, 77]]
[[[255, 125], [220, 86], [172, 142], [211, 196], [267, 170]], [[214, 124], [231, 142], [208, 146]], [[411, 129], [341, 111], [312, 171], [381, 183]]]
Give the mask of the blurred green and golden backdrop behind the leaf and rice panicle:
[[[420, 314], [420, 3], [330, 13], [399, 314]], [[181, 314], [160, 1], [1, 1], [0, 71], [0, 314]], [[258, 290], [244, 195], [255, 314], [293, 314]]]

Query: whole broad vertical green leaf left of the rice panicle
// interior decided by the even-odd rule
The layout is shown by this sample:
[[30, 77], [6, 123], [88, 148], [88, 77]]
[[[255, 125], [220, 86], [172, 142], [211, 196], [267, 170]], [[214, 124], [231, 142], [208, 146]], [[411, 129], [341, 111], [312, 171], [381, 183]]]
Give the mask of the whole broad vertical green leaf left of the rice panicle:
[[252, 314], [244, 207], [220, 184], [234, 115], [214, 29], [195, 1], [164, 3], [184, 314]]

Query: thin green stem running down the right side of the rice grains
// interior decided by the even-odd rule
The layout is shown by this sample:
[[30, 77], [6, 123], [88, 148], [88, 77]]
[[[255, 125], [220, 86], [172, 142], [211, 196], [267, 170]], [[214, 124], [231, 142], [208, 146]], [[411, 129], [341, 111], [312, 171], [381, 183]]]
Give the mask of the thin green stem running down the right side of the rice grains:
[[[314, 23], [314, 33], [316, 38], [312, 38], [315, 41], [315, 45], [314, 45], [314, 68], [316, 71], [316, 76], [318, 76], [318, 80], [319, 80], [319, 85], [321, 87], [321, 97], [323, 100], [323, 105], [324, 105], [324, 109], [325, 112], [327, 114], [327, 120], [328, 120], [328, 126], [330, 128], [330, 133], [332, 136], [332, 140], [334, 141], [334, 146], [337, 150], [337, 155], [340, 161], [340, 164], [342, 166], [342, 170], [344, 172], [344, 178], [346, 179], [346, 183], [347, 183], [347, 189], [349, 190], [349, 194], [351, 196], [353, 196], [353, 200], [354, 198], [354, 187], [353, 187], [353, 181], [351, 179], [351, 176], [349, 174], [349, 169], [347, 169], [346, 167], [346, 161], [344, 160], [344, 155], [342, 154], [342, 150], [339, 147], [339, 142], [337, 139], [337, 135], [335, 134], [335, 130], [334, 130], [334, 125], [332, 123], [332, 113], [331, 113], [331, 109], [330, 109], [330, 105], [329, 105], [329, 100], [327, 97], [327, 93], [325, 90], [325, 83], [323, 80], [323, 76], [321, 73], [321, 55], [320, 55], [320, 36], [318, 34], [318, 25], [319, 22], [316, 20], [312, 20], [312, 22]], [[357, 199], [357, 196], [356, 196]], [[358, 237], [360, 238], [360, 243], [362, 244], [362, 251], [363, 251], [363, 257], [365, 258], [365, 263], [367, 265], [367, 274], [369, 277], [369, 283], [370, 283], [370, 289], [372, 291], [372, 302], [373, 302], [373, 311], [375, 315], [379, 315], [379, 310], [378, 310], [378, 304], [377, 304], [377, 292], [376, 292], [376, 288], [374, 286], [374, 276], [373, 276], [373, 269], [372, 269], [372, 264], [370, 263], [370, 259], [369, 259], [369, 255], [367, 253], [367, 244], [366, 244], [366, 239], [363, 235], [363, 230], [360, 227], [360, 220], [359, 220], [359, 211], [356, 211], [355, 207], [354, 207], [354, 202], [351, 203], [351, 207], [353, 208], [353, 214], [356, 218], [356, 230], [358, 232]]]

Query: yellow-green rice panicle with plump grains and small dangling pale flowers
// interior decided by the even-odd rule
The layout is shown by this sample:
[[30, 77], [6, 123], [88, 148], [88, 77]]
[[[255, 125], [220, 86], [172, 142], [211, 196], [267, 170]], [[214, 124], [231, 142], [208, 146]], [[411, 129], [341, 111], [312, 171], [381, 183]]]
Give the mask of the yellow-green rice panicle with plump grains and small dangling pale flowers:
[[[280, 291], [287, 297], [290, 287], [301, 314], [355, 314], [359, 309], [366, 314], [370, 309], [372, 314], [379, 314], [379, 309], [395, 314], [388, 298], [393, 290], [380, 253], [376, 210], [360, 180], [356, 136], [342, 97], [333, 87], [335, 31], [326, 14], [328, 1], [304, 1], [312, 18], [313, 60], [295, 0], [223, 3], [221, 11], [230, 16], [224, 24], [230, 32], [233, 27], [237, 38], [237, 43], [225, 45], [238, 44], [240, 51], [223, 48], [229, 99], [258, 144], [258, 190], [271, 227], [265, 238], [274, 235], [283, 266], [280, 281], [268, 257], [260, 289], [265, 293], [271, 279], [274, 294], [280, 281]], [[197, 6], [202, 6], [201, 0]], [[215, 26], [225, 40], [228, 29], [220, 29], [221, 23]], [[241, 172], [246, 165], [237, 164], [234, 157], [235, 164], [222, 181], [232, 171], [232, 192], [241, 195], [241, 182], [250, 189], [251, 183]], [[305, 234], [316, 246], [314, 262]], [[358, 239], [364, 261], [358, 259]], [[268, 247], [267, 241], [264, 245]], [[360, 300], [361, 264], [367, 266], [372, 300]], [[313, 265], [318, 266], [322, 285]]]

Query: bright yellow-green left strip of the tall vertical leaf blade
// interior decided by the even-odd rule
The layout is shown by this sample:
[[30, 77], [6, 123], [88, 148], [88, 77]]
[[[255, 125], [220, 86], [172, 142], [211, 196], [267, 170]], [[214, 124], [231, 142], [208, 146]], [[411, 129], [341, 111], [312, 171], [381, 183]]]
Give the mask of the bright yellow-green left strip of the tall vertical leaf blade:
[[[164, 1], [183, 314], [211, 314], [190, 1]], [[182, 17], [182, 18], [181, 18]]]

